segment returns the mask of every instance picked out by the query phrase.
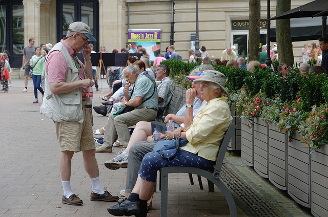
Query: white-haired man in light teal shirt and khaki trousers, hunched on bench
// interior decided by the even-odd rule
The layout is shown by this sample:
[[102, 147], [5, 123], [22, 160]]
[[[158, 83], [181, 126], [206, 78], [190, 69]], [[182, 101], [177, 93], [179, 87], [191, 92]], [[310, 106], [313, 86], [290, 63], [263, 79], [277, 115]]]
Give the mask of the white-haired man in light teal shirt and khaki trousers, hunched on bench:
[[121, 106], [130, 106], [134, 109], [124, 114], [115, 115], [115, 117], [113, 113], [109, 116], [104, 134], [104, 144], [97, 148], [97, 152], [112, 152], [112, 144], [115, 142], [116, 134], [121, 144], [126, 147], [131, 137], [129, 126], [133, 126], [139, 121], [152, 121], [156, 118], [158, 100], [156, 86], [153, 82], [145, 75], [140, 74], [133, 65], [127, 66], [123, 75], [127, 82], [129, 81], [134, 86], [131, 97], [128, 95], [129, 86], [124, 87], [125, 99]]

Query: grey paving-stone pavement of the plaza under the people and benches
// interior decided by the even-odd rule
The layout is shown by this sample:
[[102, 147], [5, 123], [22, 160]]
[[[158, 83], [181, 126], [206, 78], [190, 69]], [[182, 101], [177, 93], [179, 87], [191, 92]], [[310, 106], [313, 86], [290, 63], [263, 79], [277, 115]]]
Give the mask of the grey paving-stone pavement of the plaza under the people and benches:
[[[39, 113], [42, 102], [40, 93], [39, 103], [32, 103], [32, 81], [29, 81], [27, 93], [22, 93], [23, 84], [22, 80], [13, 80], [14, 87], [9, 89], [9, 93], [0, 94], [0, 148], [3, 150], [0, 154], [0, 216], [111, 216], [107, 207], [116, 203], [93, 202], [89, 199], [92, 187], [83, 166], [82, 153], [76, 153], [73, 157], [71, 184], [73, 192], [79, 194], [84, 205], [61, 203], [63, 189], [58, 168], [60, 149], [54, 123]], [[104, 93], [108, 91], [103, 89]], [[100, 105], [98, 96], [104, 93], [94, 92], [94, 105]], [[107, 121], [107, 117], [96, 113], [93, 113], [93, 117], [94, 129], [101, 128]], [[101, 185], [119, 196], [118, 192], [125, 188], [126, 169], [109, 170], [104, 166], [104, 162], [114, 158], [117, 151], [119, 148], [114, 148], [113, 153], [96, 153], [96, 158]], [[252, 177], [254, 183], [264, 180], [252, 168], [240, 162], [240, 158], [227, 159], [235, 171], [242, 171], [239, 176]], [[198, 184], [190, 185], [187, 174], [170, 175], [168, 216], [230, 216], [227, 202], [219, 190], [215, 188], [215, 192], [209, 192], [205, 179], [203, 185], [204, 190], [200, 190]], [[278, 202], [281, 197], [288, 198], [281, 196], [283, 193], [277, 190], [274, 190], [274, 194]], [[160, 212], [160, 191], [155, 192], [152, 204], [148, 216], [157, 217]], [[311, 216], [309, 210], [303, 210], [293, 202], [290, 206], [296, 212], [293, 216]], [[238, 206], [237, 212], [238, 216], [249, 216]]]

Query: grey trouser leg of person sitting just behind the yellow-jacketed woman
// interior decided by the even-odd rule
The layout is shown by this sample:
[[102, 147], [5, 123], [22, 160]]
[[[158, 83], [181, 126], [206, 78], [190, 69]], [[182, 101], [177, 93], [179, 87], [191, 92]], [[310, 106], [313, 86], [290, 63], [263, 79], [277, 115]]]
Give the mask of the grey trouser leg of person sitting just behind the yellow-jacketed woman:
[[127, 184], [125, 186], [126, 193], [131, 193], [138, 178], [138, 171], [141, 161], [147, 153], [153, 151], [155, 145], [156, 143], [152, 141], [141, 141], [135, 143], [130, 148], [128, 157]]

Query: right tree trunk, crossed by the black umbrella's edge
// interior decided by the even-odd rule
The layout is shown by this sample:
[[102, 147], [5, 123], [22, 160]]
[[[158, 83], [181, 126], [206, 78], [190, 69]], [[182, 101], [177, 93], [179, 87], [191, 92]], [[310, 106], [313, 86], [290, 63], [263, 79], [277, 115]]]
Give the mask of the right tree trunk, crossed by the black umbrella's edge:
[[[291, 0], [277, 0], [277, 15], [291, 10]], [[291, 20], [276, 20], [277, 49], [279, 63], [285, 63], [286, 66], [293, 66], [294, 54], [291, 36]]]

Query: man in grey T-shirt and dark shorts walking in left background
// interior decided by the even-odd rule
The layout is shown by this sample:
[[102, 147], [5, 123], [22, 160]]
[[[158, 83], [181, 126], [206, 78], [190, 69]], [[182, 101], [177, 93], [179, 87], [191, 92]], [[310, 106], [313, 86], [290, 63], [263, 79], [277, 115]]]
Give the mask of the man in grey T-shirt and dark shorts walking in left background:
[[30, 59], [32, 58], [32, 56], [35, 55], [35, 39], [34, 38], [29, 38], [29, 45], [26, 46], [23, 49], [23, 65], [22, 65], [22, 69], [24, 70], [24, 84], [25, 84], [25, 88], [22, 91], [23, 93], [27, 92], [27, 84], [29, 82], [29, 74], [30, 71], [32, 69], [31, 65], [30, 65]]

